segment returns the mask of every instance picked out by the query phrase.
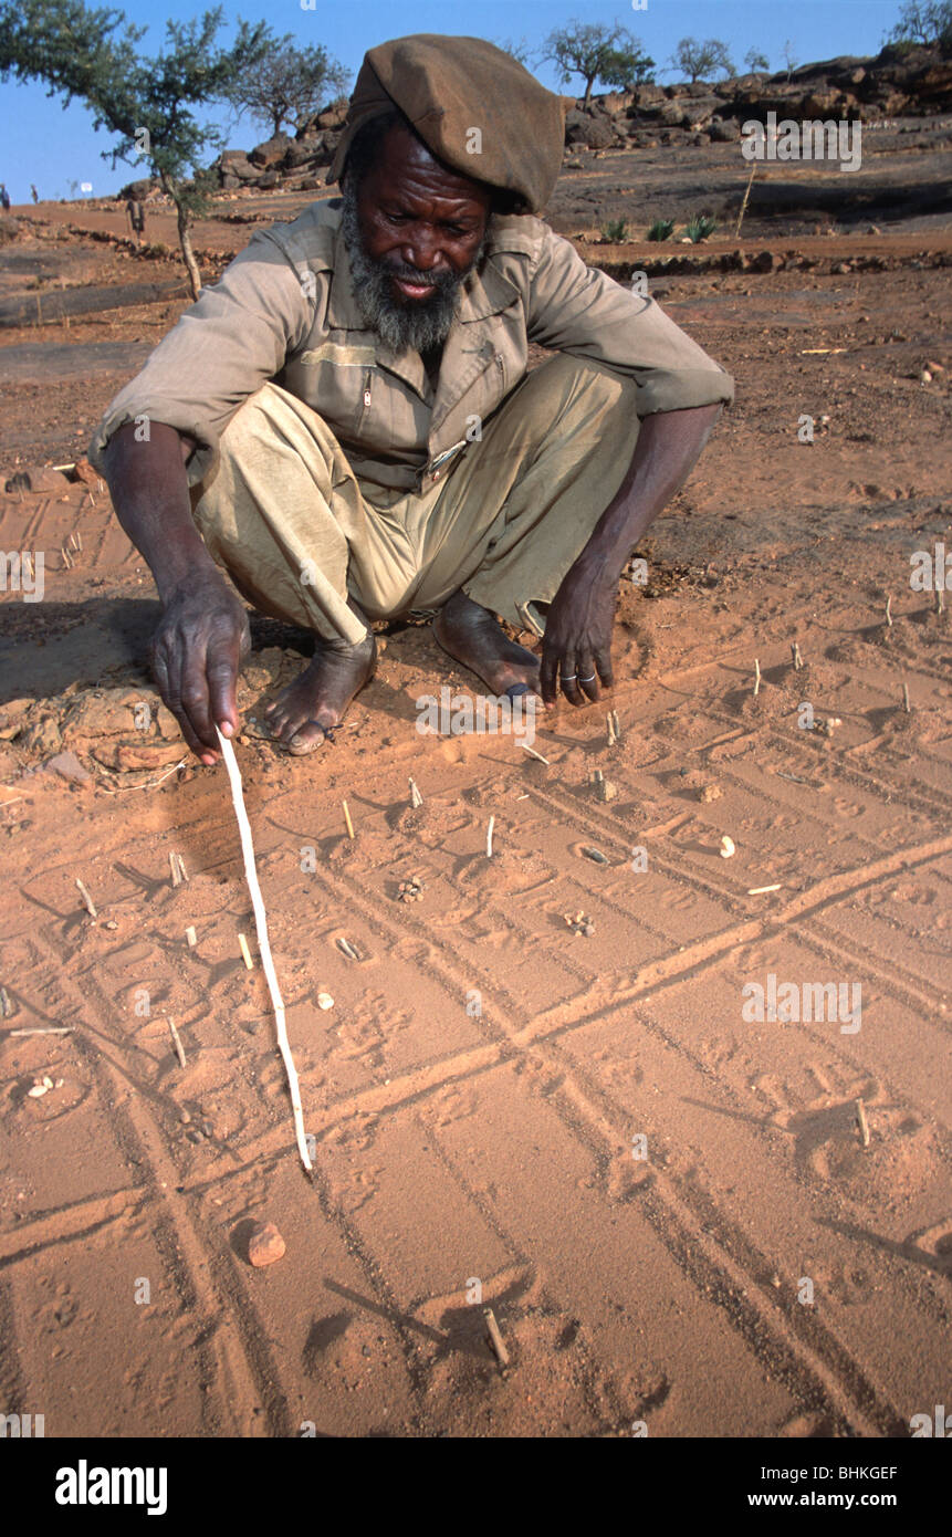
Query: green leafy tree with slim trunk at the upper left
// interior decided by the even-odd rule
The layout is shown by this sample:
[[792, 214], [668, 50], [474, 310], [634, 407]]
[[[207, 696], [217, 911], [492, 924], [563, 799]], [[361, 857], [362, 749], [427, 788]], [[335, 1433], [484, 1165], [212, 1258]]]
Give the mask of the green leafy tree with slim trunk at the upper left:
[[[118, 137], [103, 160], [141, 164], [175, 206], [178, 244], [192, 298], [201, 274], [191, 226], [205, 212], [211, 177], [201, 171], [223, 135], [201, 124], [191, 108], [228, 100], [228, 92], [266, 52], [268, 26], [238, 22], [231, 48], [215, 48], [221, 8], [186, 23], [166, 22], [165, 51], [143, 57], [137, 43], [146, 28], [131, 26], [123, 11], [92, 11], [83, 0], [5, 0], [0, 5], [0, 78], [43, 80], [48, 95], [74, 98], [92, 112], [92, 126]], [[188, 172], [192, 180], [188, 181]]]

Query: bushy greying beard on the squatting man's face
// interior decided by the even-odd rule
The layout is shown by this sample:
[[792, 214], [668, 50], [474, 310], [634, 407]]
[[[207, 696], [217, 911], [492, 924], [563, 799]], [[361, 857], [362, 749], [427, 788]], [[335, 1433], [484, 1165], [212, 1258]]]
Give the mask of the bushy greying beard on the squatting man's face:
[[[394, 352], [404, 352], [408, 347], [429, 352], [443, 346], [460, 310], [463, 280], [480, 261], [486, 249], [486, 235], [466, 272], [417, 272], [403, 264], [388, 267], [364, 249], [357, 218], [355, 188], [345, 184], [341, 197], [340, 224], [351, 260], [354, 298], [368, 327]], [[401, 304], [391, 289], [394, 275], [408, 283], [434, 283], [437, 292], [420, 303]]]

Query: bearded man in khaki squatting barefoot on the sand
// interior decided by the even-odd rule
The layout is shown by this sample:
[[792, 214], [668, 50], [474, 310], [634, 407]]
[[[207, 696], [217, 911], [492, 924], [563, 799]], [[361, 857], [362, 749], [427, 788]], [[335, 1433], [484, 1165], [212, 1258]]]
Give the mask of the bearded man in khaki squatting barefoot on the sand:
[[[372, 678], [380, 619], [431, 618], [500, 698], [612, 686], [620, 575], [732, 381], [538, 217], [563, 123], [491, 43], [372, 48], [341, 197], [255, 234], [108, 409], [91, 458], [155, 578], [152, 666], [201, 762], [238, 727], [235, 589], [314, 633], [268, 707], [292, 753]], [[529, 341], [554, 354], [532, 373]]]

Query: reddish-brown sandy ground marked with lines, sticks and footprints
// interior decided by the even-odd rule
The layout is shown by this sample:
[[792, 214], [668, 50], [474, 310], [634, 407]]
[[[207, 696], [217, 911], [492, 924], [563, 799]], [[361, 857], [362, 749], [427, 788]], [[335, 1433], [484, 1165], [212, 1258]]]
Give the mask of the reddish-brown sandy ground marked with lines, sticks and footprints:
[[[55, 237], [14, 247], [63, 258], [49, 284], [177, 275]], [[277, 756], [255, 719], [308, 642], [255, 621], [237, 752], [314, 1185], [225, 770], [175, 768], [145, 669], [145, 563], [102, 487], [0, 496], [0, 547], [46, 553], [43, 603], [0, 615], [9, 1409], [83, 1437], [889, 1437], [947, 1402], [952, 603], [909, 583], [952, 550], [947, 232], [829, 271], [869, 238], [658, 283], [738, 400], [623, 584], [614, 699], [540, 722], [548, 764], [415, 729], [423, 695], [478, 692], [417, 626], [337, 745]], [[0, 332], [5, 476], [74, 458], [181, 304]], [[769, 976], [861, 1014], [744, 1019]], [[286, 1254], [257, 1270], [263, 1220]]]

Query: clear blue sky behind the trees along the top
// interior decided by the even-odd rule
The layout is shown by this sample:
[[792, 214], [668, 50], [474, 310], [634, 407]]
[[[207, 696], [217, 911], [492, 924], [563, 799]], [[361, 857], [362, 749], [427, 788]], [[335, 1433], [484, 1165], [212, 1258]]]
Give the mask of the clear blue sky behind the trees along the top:
[[[121, 5], [121, 0], [118, 0]], [[117, 5], [117, 8], [118, 8]], [[148, 0], [131, 0], [121, 6], [128, 18], [149, 28], [143, 43], [148, 52], [158, 52], [166, 17], [188, 20], [205, 6], [186, 0], [166, 0], [160, 11]], [[795, 5], [769, 5], [763, 0], [647, 0], [646, 11], [634, 11], [631, 0], [481, 0], [471, 15], [464, 6], [446, 0], [417, 0], [412, 20], [406, 9], [395, 14], [392, 5], [363, 0], [361, 5], [317, 0], [315, 9], [303, 9], [300, 0], [278, 0], [277, 5], [225, 3], [228, 28], [237, 17], [266, 20], [277, 34], [291, 32], [301, 45], [323, 43], [349, 71], [351, 83], [368, 48], [401, 32], [478, 34], [492, 41], [526, 38], [532, 49], [548, 34], [566, 22], [620, 22], [643, 41], [660, 66], [658, 80], [675, 78], [669, 58], [681, 37], [718, 37], [731, 48], [734, 61], [743, 68], [749, 48], [763, 51], [771, 68], [783, 65], [783, 46], [789, 38], [800, 63], [834, 58], [838, 54], [875, 54], [900, 14], [900, 0], [797, 0]], [[580, 81], [561, 86], [551, 66], [535, 72], [549, 88], [580, 91]], [[243, 118], [229, 134], [229, 143], [251, 148], [260, 132]], [[91, 181], [94, 195], [115, 192], [135, 174], [121, 163], [111, 171], [102, 151], [109, 144], [106, 131], [92, 132], [89, 112], [78, 103], [66, 111], [49, 98], [40, 85], [0, 88], [0, 180], [6, 181], [14, 203], [29, 198], [35, 181], [40, 197], [72, 197], [69, 183]]]

